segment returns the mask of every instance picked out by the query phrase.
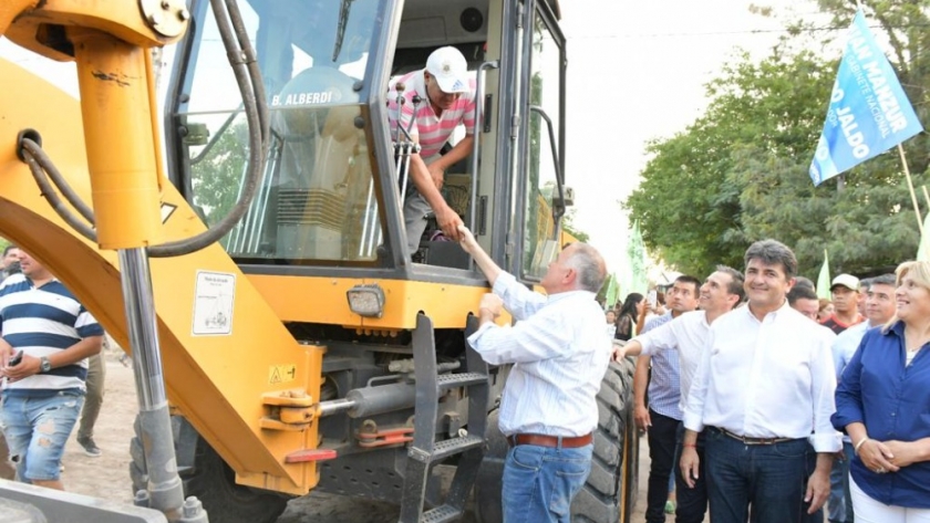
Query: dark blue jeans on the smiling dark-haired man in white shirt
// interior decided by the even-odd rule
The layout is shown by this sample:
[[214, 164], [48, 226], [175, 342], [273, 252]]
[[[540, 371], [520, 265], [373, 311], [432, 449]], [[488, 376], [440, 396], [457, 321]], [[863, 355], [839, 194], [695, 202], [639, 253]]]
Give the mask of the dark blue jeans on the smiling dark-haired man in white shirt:
[[817, 453], [806, 438], [745, 444], [713, 427], [704, 432], [704, 470], [714, 523], [810, 521], [804, 494]]

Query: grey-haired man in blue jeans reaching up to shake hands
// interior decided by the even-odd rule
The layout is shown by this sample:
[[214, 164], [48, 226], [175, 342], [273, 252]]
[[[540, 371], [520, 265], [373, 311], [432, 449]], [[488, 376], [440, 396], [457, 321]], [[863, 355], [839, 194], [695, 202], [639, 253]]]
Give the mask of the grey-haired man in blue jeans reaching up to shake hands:
[[[596, 397], [611, 354], [596, 301], [607, 275], [603, 259], [591, 245], [569, 244], [542, 276], [542, 295], [494, 263], [465, 226], [458, 231], [494, 290], [482, 297], [480, 326], [468, 343], [489, 364], [514, 364], [499, 414], [510, 444], [504, 521], [568, 523], [571, 500], [591, 471]], [[515, 325], [494, 323], [502, 306]]]

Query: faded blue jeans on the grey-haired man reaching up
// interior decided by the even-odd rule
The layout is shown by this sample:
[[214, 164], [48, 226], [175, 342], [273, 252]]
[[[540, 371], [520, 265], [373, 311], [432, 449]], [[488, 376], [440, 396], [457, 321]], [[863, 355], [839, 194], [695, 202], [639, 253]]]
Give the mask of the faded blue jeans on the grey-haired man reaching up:
[[591, 472], [593, 448], [512, 448], [504, 463], [504, 523], [569, 523], [571, 500]]

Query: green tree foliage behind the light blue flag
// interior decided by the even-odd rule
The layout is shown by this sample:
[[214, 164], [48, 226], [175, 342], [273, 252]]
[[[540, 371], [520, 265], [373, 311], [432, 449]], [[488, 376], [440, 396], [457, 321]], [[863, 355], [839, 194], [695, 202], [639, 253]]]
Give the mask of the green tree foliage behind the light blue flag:
[[[849, 25], [855, 4], [819, 3], [838, 27]], [[922, 122], [927, 3], [887, 1], [867, 12], [877, 40], [889, 41], [889, 57]], [[764, 238], [792, 247], [808, 275], [825, 248], [836, 272], [872, 272], [914, 257], [918, 226], [897, 150], [846, 172], [844, 181], [815, 188], [807, 175], [839, 56], [793, 51], [799, 48], [793, 42], [809, 34], [804, 23], [763, 60], [744, 53], [725, 65], [706, 86], [712, 102], [705, 114], [648, 146], [652, 159], [623, 206], [640, 220], [650, 250], [683, 272], [707, 274], [717, 263], [740, 268], [746, 247]], [[905, 149], [920, 196], [928, 182], [926, 136]]]

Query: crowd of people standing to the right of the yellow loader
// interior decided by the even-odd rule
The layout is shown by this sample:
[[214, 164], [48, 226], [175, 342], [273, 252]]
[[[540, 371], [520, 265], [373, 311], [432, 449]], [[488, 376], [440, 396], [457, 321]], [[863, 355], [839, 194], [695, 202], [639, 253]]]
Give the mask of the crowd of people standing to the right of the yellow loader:
[[[499, 420], [505, 521], [569, 521], [611, 338], [614, 359], [639, 356], [648, 522], [670, 508], [678, 522], [709, 511], [714, 523], [930, 521], [930, 262], [861, 282], [840, 274], [824, 303], [792, 250], [764, 240], [742, 272], [683, 275], [654, 302], [631, 294], [593, 322], [603, 261], [590, 245], [550, 264], [544, 296], [459, 230], [494, 291], [469, 342], [488, 363], [514, 364]], [[494, 323], [502, 307], [509, 328]]]

